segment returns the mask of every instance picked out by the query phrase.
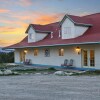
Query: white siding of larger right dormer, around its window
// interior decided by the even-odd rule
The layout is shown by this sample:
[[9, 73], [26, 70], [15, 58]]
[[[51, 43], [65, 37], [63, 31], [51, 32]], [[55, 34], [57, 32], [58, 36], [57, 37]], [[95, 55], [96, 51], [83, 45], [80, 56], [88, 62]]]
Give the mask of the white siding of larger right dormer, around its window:
[[[70, 34], [64, 34], [65, 27], [71, 28]], [[66, 18], [66, 20], [62, 24], [62, 39], [76, 38], [78, 36], [83, 35], [87, 29], [88, 29], [88, 27], [74, 25], [74, 23], [72, 21], [70, 21], [68, 18]]]

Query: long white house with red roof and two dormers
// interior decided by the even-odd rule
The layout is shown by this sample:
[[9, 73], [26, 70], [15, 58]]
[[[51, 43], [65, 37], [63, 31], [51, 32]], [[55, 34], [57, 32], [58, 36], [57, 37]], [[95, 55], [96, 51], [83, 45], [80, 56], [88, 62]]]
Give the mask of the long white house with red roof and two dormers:
[[15, 63], [31, 59], [40, 66], [61, 66], [73, 59], [73, 66], [100, 69], [100, 13], [66, 14], [59, 22], [30, 24], [27, 36], [6, 48], [15, 49]]

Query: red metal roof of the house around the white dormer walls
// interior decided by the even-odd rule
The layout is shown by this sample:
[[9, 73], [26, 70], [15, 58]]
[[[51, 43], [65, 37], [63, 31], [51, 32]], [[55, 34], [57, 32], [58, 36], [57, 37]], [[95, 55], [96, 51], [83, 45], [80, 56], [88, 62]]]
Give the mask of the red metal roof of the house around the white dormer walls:
[[[52, 45], [70, 45], [70, 44], [86, 44], [93, 42], [100, 42], [100, 13], [87, 15], [81, 17], [70, 16], [74, 21], [83, 23], [83, 19], [88, 20], [88, 24], [93, 26], [82, 35], [73, 39], [61, 39], [59, 38], [59, 23], [52, 23], [48, 25], [33, 25], [36, 30], [41, 31], [53, 31], [53, 38], [50, 38], [48, 34], [43, 40], [28, 43], [27, 36], [19, 43], [8, 46], [7, 48], [22, 48], [22, 47], [37, 47], [37, 46], [52, 46]], [[86, 21], [85, 20], [85, 21]], [[84, 22], [85, 22], [84, 21]], [[90, 23], [89, 23], [90, 21]]]

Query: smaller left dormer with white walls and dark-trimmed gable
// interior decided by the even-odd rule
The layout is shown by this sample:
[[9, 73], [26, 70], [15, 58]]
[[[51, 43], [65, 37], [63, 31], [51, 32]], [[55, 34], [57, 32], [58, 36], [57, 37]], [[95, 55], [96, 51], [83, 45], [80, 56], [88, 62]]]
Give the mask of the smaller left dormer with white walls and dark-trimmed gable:
[[40, 41], [44, 39], [49, 33], [51, 33], [49, 31], [37, 30], [38, 27], [41, 28], [41, 25], [29, 25], [28, 29], [26, 30], [26, 33], [28, 34], [28, 43]]

